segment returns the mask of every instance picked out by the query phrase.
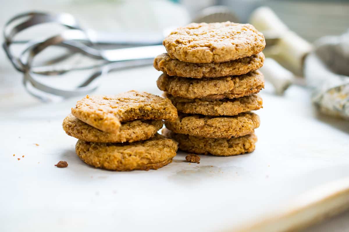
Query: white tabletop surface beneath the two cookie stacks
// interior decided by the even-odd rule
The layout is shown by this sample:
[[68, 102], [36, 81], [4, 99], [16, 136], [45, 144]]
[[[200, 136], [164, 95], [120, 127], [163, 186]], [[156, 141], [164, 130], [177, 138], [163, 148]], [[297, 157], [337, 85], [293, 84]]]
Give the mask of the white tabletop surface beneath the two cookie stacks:
[[[151, 66], [115, 72], [97, 93], [161, 94], [158, 75]], [[189, 164], [179, 152], [159, 170], [120, 173], [89, 167], [76, 156], [76, 139], [61, 128], [76, 99], [10, 104], [29, 98], [18, 89], [0, 113], [3, 230], [220, 231], [254, 222], [313, 187], [348, 177], [348, 122], [318, 115], [304, 89], [292, 87], [284, 97], [268, 91], [257, 112], [261, 126], [253, 153], [203, 155], [200, 164]], [[59, 160], [68, 168], [54, 167]], [[346, 218], [348, 213], [337, 217], [332, 231], [348, 229]]]

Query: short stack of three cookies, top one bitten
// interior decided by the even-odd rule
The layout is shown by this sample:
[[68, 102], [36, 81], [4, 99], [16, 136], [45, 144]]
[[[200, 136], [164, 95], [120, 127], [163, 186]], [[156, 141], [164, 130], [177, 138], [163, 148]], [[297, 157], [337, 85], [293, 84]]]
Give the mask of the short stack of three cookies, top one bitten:
[[114, 96], [86, 96], [63, 121], [78, 138], [76, 154], [87, 164], [118, 171], [158, 169], [172, 162], [177, 144], [157, 134], [163, 120], [175, 121], [169, 99], [128, 91]]

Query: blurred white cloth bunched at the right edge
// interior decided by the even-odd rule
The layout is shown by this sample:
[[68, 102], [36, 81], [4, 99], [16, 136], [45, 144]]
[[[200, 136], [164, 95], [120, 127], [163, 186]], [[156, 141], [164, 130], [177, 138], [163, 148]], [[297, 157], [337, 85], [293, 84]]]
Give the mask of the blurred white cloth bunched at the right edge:
[[304, 75], [321, 112], [349, 119], [349, 31], [315, 42]]

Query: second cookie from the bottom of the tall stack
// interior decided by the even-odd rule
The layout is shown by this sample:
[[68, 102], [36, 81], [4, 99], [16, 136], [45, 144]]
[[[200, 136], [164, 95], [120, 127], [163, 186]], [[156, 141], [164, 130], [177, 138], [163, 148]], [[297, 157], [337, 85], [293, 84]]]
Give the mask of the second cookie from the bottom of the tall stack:
[[165, 122], [165, 126], [178, 134], [231, 138], [253, 133], [254, 129], [259, 127], [259, 123], [259, 116], [250, 112], [221, 117], [179, 113], [176, 121]]

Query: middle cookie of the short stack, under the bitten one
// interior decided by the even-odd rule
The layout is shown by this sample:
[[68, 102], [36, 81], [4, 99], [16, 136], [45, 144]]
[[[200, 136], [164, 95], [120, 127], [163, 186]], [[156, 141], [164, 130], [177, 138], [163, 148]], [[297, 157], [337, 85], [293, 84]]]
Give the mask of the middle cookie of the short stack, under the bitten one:
[[97, 143], [123, 143], [146, 140], [153, 137], [162, 128], [162, 120], [134, 120], [121, 123], [116, 133], [98, 130], [72, 114], [63, 120], [63, 129], [69, 136]]

